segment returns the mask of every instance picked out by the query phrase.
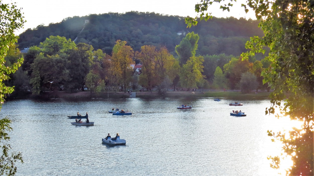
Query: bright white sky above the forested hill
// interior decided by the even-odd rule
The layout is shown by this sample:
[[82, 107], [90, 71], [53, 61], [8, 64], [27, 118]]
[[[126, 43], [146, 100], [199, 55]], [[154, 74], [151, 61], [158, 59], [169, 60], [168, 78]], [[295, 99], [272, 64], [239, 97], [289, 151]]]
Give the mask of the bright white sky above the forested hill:
[[[200, 0], [2, 0], [2, 3], [14, 3], [18, 8], [23, 8], [25, 20], [27, 21], [23, 29], [16, 34], [22, 33], [28, 28], [35, 28], [40, 24], [61, 22], [64, 18], [73, 16], [85, 16], [89, 14], [102, 14], [108, 12], [125, 13], [130, 11], [155, 12], [160, 14], [190, 16], [195, 17], [194, 6]], [[230, 12], [222, 12], [220, 5], [213, 6], [212, 13], [215, 17], [252, 18], [255, 19], [254, 12], [244, 12], [238, 0]], [[223, 2], [223, 4], [229, 3]]]

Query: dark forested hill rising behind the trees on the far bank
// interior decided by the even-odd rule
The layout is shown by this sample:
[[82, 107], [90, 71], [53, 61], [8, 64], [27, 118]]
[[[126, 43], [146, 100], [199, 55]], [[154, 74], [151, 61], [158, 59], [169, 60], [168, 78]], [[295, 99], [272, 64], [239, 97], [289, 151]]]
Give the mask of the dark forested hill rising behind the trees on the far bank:
[[[89, 23], [85, 23], [85, 19]], [[197, 54], [239, 55], [245, 51], [245, 42], [254, 35], [262, 36], [258, 21], [244, 18], [215, 18], [201, 21], [196, 27], [187, 28], [184, 17], [167, 16], [158, 13], [127, 12], [91, 14], [84, 17], [69, 17], [60, 23], [39, 25], [20, 34], [19, 48], [39, 45], [47, 37], [64, 36], [75, 43], [91, 44], [111, 54], [116, 40], [125, 40], [134, 50], [143, 45], [166, 46], [171, 53], [180, 43], [183, 35], [194, 32], [199, 35]], [[84, 29], [83, 29], [84, 28]], [[82, 30], [83, 29], [83, 30]]]

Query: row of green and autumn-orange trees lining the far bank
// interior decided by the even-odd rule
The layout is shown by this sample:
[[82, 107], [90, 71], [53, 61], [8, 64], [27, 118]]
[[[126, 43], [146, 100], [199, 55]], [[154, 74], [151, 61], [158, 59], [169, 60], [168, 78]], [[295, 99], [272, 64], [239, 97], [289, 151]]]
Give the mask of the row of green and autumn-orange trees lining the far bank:
[[[143, 45], [139, 51], [127, 41], [117, 40], [111, 54], [94, 49], [85, 43], [50, 36], [24, 55], [24, 63], [7, 82], [17, 93], [32, 91], [152, 91], [192, 89], [267, 89], [261, 72], [269, 64], [255, 58], [243, 60], [232, 55], [197, 55], [199, 35], [188, 33], [176, 45], [178, 58], [166, 47]], [[6, 64], [22, 55], [15, 45], [10, 46]], [[136, 70], [135, 60], [142, 65]], [[205, 67], [204, 67], [205, 66]]]

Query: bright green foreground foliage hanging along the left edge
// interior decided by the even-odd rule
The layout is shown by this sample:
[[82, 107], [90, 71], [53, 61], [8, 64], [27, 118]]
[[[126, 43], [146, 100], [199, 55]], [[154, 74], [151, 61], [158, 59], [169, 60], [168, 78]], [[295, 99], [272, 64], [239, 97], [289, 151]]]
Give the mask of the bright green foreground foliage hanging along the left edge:
[[[18, 59], [15, 63], [11, 63], [10, 66], [5, 65], [5, 57], [7, 55], [9, 46], [17, 43], [18, 36], [14, 34], [16, 29], [22, 28], [25, 21], [21, 14], [21, 9], [18, 9], [13, 3], [4, 4], [0, 0], [0, 109], [4, 103], [4, 98], [6, 94], [12, 93], [14, 91], [13, 87], [8, 87], [4, 84], [5, 80], [9, 79], [9, 74], [14, 73], [21, 63], [23, 58]], [[2, 155], [0, 157], [0, 174], [15, 175], [17, 167], [15, 163], [20, 161], [23, 163], [23, 158], [21, 153], [9, 153], [11, 146], [8, 143], [10, 137], [8, 136], [8, 131], [12, 131], [10, 127], [11, 121], [8, 118], [3, 118], [0, 120], [0, 142], [2, 148]]]

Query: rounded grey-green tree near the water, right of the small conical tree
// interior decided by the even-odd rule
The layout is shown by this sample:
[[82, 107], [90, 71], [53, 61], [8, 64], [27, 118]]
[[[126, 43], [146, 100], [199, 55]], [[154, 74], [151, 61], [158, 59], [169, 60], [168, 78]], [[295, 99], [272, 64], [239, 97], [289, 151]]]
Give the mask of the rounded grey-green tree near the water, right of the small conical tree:
[[250, 93], [257, 88], [256, 76], [251, 72], [242, 73], [239, 87], [241, 88], [241, 92]]

